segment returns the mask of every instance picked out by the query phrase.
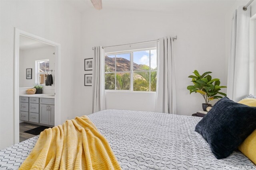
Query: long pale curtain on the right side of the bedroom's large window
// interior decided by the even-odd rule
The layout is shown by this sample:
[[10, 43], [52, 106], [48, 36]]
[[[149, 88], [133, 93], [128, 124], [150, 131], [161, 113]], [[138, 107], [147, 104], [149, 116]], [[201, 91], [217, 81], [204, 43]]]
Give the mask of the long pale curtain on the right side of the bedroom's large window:
[[176, 114], [176, 81], [172, 38], [160, 38], [157, 51], [156, 112]]

